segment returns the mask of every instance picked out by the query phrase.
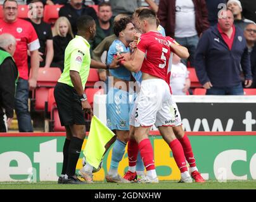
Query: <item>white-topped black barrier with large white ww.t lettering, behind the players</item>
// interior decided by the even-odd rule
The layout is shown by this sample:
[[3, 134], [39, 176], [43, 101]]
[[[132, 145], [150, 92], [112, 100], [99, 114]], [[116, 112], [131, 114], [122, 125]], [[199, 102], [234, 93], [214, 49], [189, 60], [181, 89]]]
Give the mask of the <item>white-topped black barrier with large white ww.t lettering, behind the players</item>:
[[[256, 96], [174, 95], [185, 131], [256, 131]], [[106, 124], [106, 95], [95, 95], [94, 114]]]

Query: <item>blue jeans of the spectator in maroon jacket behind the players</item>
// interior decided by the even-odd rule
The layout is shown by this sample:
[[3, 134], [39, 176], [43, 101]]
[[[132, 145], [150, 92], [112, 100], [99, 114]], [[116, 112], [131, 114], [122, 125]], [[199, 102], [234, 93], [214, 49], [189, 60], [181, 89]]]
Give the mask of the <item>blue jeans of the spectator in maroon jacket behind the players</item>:
[[[190, 66], [195, 67], [195, 52], [196, 52], [196, 46], [198, 44], [198, 35], [195, 35], [193, 37], [184, 37], [184, 38], [179, 38], [176, 37], [175, 38], [176, 42], [178, 42], [179, 44], [183, 45], [184, 47], [186, 47], [188, 49], [189, 52], [189, 57], [188, 60], [190, 61]], [[186, 59], [182, 59], [181, 60], [182, 63], [184, 63], [187, 66], [187, 60]]]

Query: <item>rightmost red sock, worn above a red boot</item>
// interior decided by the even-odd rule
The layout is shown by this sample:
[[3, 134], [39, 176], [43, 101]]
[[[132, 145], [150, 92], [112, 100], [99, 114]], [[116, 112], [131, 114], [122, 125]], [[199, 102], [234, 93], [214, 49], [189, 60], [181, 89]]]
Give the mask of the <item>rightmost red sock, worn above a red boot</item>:
[[190, 141], [188, 139], [188, 136], [186, 134], [183, 136], [183, 138], [179, 139], [179, 142], [182, 145], [182, 148], [184, 150], [184, 154], [186, 157], [186, 160], [189, 163], [190, 167], [195, 167], [196, 166], [196, 160], [194, 158], [193, 150], [190, 144]]

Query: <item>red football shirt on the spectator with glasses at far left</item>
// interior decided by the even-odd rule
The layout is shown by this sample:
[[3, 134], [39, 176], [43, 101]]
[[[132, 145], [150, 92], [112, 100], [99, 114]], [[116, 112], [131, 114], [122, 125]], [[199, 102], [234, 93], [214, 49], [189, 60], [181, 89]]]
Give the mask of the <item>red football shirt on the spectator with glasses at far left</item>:
[[0, 19], [0, 35], [2, 33], [10, 33], [16, 38], [16, 51], [14, 59], [20, 78], [28, 80], [29, 68], [27, 64], [27, 50], [33, 51], [40, 47], [37, 33], [29, 21], [17, 19], [14, 23], [6, 23]]

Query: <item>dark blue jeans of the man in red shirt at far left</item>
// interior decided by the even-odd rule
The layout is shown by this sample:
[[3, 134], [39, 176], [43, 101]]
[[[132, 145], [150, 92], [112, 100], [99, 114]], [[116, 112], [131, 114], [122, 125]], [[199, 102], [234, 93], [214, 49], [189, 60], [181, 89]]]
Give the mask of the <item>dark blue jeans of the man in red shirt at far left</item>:
[[28, 99], [29, 81], [19, 78], [15, 94], [15, 112], [18, 119], [18, 130], [20, 132], [33, 132]]

